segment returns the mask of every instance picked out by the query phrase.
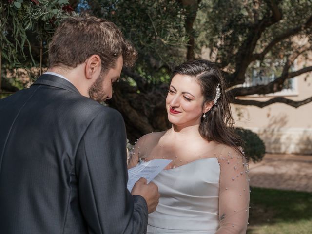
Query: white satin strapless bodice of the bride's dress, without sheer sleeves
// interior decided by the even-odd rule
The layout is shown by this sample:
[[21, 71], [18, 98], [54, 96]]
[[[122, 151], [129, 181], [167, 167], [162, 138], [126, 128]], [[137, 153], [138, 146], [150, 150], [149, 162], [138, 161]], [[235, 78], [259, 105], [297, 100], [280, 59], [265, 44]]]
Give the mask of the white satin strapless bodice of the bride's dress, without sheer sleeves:
[[153, 180], [160, 199], [149, 215], [148, 234], [215, 234], [219, 228], [217, 158], [198, 159], [163, 170]]

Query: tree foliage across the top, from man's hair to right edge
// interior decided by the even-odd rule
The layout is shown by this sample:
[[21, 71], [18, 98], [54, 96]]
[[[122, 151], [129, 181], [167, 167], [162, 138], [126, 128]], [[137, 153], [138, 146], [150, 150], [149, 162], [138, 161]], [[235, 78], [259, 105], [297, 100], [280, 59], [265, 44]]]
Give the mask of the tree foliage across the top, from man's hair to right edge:
[[[172, 0], [98, 0], [87, 1], [90, 10], [100, 17], [113, 21], [121, 28], [139, 51], [136, 72], [147, 74], [147, 80], [162, 82], [157, 71], [170, 68], [185, 61], [186, 44], [189, 36], [185, 20], [190, 9], [181, 1]], [[192, 1], [189, 1], [192, 2]], [[268, 26], [259, 35], [254, 53], [263, 51], [277, 35], [297, 27], [312, 15], [311, 0], [274, 1], [282, 13], [282, 20]], [[197, 10], [197, 9], [196, 9]], [[211, 53], [211, 60], [219, 62], [229, 72], [239, 69], [237, 59], [242, 44], [259, 22], [272, 17], [272, 6], [268, 1], [202, 0], [197, 10], [191, 35], [195, 37], [195, 57], [201, 57], [203, 48]], [[309, 36], [310, 35], [310, 36]], [[311, 29], [305, 29], [296, 37], [310, 37]], [[249, 62], [246, 77], [256, 73], [259, 77], [276, 78], [281, 75], [287, 56], [298, 46], [289, 36], [277, 43], [261, 60]], [[138, 67], [140, 71], [138, 70]]]

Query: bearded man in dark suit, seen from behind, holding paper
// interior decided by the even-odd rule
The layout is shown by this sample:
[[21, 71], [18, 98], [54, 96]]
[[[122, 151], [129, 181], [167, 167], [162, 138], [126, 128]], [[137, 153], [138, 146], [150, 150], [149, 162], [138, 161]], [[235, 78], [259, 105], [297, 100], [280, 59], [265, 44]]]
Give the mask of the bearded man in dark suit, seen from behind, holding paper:
[[0, 100], [0, 234], [140, 234], [158, 189], [126, 188], [123, 118], [98, 102], [137, 52], [111, 22], [68, 18], [48, 72]]

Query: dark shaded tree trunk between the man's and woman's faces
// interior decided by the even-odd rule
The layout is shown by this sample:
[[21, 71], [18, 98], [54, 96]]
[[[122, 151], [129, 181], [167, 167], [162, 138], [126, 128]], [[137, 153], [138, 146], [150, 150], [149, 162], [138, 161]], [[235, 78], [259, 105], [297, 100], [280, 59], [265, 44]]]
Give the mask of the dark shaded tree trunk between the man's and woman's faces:
[[147, 93], [138, 93], [136, 87], [126, 82], [114, 84], [113, 98], [108, 103], [122, 114], [131, 144], [145, 134], [170, 128], [165, 104], [166, 92], [165, 85], [154, 86]]

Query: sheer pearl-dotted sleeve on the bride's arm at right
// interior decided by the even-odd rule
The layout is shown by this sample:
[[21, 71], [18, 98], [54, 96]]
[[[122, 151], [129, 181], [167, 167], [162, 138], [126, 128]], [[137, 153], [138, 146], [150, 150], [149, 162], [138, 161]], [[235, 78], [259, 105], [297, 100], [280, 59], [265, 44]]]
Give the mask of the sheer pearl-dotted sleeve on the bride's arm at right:
[[220, 227], [216, 234], [245, 234], [250, 193], [246, 158], [234, 148], [225, 146], [218, 161]]

